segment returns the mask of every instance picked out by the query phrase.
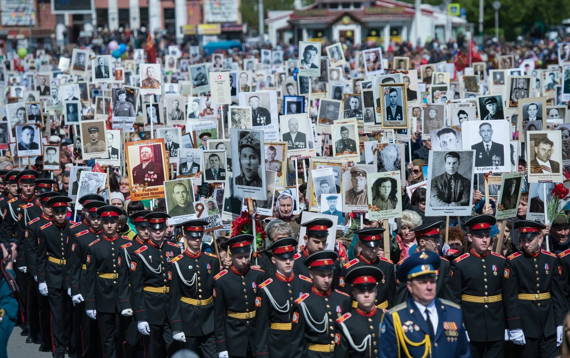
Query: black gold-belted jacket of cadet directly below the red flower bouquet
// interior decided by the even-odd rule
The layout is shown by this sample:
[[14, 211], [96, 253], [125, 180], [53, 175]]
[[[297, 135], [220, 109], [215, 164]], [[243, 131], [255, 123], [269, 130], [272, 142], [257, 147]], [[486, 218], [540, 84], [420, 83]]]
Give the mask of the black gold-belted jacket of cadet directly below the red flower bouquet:
[[214, 334], [218, 352], [245, 357], [249, 344], [255, 355], [255, 295], [263, 281], [264, 271], [254, 267], [242, 273], [230, 266], [214, 276]]

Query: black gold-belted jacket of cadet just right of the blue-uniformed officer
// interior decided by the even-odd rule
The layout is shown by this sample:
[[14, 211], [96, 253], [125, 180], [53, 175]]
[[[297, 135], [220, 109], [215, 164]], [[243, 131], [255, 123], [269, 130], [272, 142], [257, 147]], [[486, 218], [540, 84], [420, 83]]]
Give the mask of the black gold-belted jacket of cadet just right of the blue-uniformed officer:
[[[461, 304], [469, 339], [476, 342], [500, 340], [504, 329], [518, 329], [516, 292], [504, 290], [506, 259], [492, 251], [474, 250], [451, 262], [451, 284], [455, 302]], [[472, 296], [472, 297], [469, 297]], [[463, 299], [465, 298], [465, 299]], [[481, 302], [473, 302], [479, 299]]]

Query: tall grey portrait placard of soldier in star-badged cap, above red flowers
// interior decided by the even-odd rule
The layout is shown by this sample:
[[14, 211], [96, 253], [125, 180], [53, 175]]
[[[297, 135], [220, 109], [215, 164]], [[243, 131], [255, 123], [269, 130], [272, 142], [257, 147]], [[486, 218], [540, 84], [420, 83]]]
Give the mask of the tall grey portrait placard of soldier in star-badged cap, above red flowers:
[[231, 152], [238, 153], [233, 168], [234, 195], [266, 200], [263, 131], [230, 128]]

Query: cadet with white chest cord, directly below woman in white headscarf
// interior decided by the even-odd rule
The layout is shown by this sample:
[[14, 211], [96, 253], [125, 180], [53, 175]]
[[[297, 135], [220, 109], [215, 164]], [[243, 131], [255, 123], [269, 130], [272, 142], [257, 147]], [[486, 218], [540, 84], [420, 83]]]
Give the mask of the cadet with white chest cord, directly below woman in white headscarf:
[[276, 272], [274, 277], [259, 285], [258, 296], [255, 298], [258, 356], [290, 356], [290, 351], [283, 349], [283, 342], [292, 340], [293, 300], [304, 292], [309, 292], [312, 287], [310, 278], [293, 272], [293, 257], [298, 245], [295, 238], [286, 237], [278, 239], [268, 248]]

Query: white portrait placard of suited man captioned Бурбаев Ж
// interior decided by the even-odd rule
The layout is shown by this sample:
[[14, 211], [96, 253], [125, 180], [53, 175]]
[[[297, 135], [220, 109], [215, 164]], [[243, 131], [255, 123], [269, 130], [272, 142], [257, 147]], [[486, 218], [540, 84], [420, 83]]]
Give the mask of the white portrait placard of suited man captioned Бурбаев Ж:
[[463, 149], [475, 150], [475, 173], [511, 171], [510, 123], [505, 120], [467, 121], [461, 125], [461, 133]]

